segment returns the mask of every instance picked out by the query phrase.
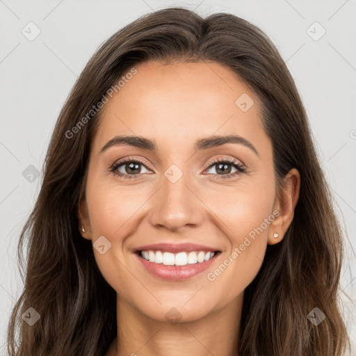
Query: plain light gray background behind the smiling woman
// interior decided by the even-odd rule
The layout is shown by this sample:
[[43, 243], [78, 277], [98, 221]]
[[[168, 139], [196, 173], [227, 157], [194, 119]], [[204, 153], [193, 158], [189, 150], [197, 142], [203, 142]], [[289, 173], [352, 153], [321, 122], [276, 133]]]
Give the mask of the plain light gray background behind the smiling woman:
[[[10, 310], [23, 287], [17, 268], [19, 232], [40, 190], [42, 175], [36, 172], [41, 171], [60, 108], [99, 44], [133, 19], [165, 6], [248, 19], [270, 36], [286, 60], [347, 234], [341, 300], [350, 337], [356, 340], [355, 0], [0, 0], [1, 355]], [[31, 40], [36, 27], [29, 22], [40, 29]], [[319, 38], [323, 29], [326, 33]]]

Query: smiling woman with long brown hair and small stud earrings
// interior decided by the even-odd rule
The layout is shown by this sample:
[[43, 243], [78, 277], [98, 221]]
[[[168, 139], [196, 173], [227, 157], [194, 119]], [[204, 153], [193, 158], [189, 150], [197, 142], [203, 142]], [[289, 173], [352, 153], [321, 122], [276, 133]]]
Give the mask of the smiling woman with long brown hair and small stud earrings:
[[349, 345], [305, 108], [275, 46], [233, 15], [166, 8], [102, 44], [58, 118], [25, 238], [10, 355]]

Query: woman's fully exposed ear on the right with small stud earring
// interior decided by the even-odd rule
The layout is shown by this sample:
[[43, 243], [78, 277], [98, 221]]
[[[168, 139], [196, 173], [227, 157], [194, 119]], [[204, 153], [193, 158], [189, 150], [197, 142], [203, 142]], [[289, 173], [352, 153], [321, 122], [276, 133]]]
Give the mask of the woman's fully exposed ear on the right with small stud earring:
[[[275, 198], [273, 211], [279, 211], [280, 215], [273, 220], [268, 229], [268, 245], [274, 245], [282, 241], [286, 230], [291, 225], [294, 217], [294, 209], [299, 199], [300, 174], [296, 168], [291, 169], [284, 178], [284, 185], [280, 197]], [[278, 234], [277, 237], [274, 235]]]

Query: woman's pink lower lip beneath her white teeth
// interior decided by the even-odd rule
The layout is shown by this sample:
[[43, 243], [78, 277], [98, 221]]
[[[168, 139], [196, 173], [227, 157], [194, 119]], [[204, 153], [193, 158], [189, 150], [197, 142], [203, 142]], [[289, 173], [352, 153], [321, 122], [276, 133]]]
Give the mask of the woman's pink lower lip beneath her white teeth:
[[195, 275], [204, 272], [204, 270], [207, 270], [211, 264], [213, 264], [213, 261], [220, 255], [220, 252], [216, 252], [216, 254], [214, 254], [211, 259], [208, 259], [208, 261], [197, 264], [187, 264], [186, 266], [165, 266], [164, 264], [155, 264], [154, 262], [149, 262], [147, 259], [141, 257], [139, 253], [135, 254], [138, 257], [138, 261], [140, 261], [140, 263], [153, 275], [156, 275], [163, 280], [178, 281], [194, 277]]

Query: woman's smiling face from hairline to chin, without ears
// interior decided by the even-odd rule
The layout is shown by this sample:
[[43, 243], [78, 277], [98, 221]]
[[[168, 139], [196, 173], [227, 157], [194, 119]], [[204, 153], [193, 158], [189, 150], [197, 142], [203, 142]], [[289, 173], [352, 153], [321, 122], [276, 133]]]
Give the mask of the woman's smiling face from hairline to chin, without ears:
[[[98, 240], [104, 253], [94, 248], [95, 259], [118, 298], [157, 321], [167, 321], [172, 307], [181, 321], [193, 321], [243, 296], [273, 243], [279, 202], [272, 145], [257, 96], [227, 67], [135, 68], [103, 109], [80, 220], [84, 237], [95, 243], [104, 236]], [[240, 138], [211, 140], [233, 135]], [[115, 136], [139, 136], [155, 149], [113, 144]], [[160, 243], [183, 253], [171, 260], [168, 252], [163, 265], [159, 252], [147, 252], [157, 263], [137, 252]], [[202, 254], [191, 252], [203, 250], [205, 257], [204, 248], [217, 252], [194, 263]], [[186, 266], [169, 265], [186, 258]]]

